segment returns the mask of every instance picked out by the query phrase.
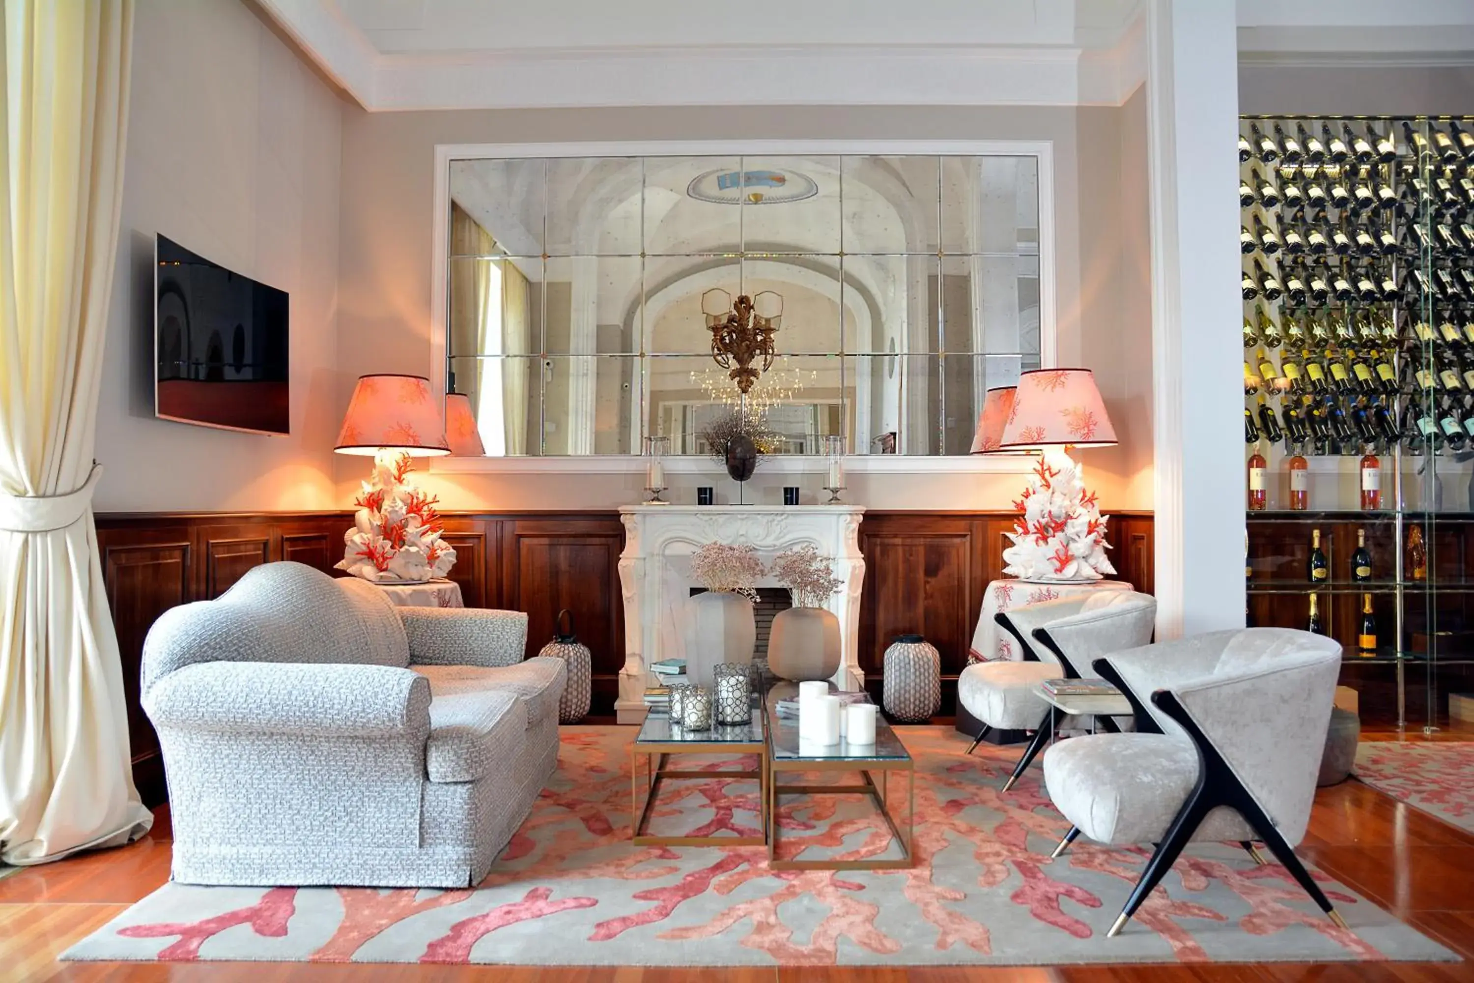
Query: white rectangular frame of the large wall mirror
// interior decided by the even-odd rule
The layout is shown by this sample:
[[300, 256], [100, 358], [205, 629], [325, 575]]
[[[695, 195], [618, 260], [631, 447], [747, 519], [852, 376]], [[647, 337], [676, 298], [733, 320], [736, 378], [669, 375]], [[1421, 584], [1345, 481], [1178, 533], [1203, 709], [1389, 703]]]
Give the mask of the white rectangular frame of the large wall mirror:
[[[616, 143], [438, 143], [435, 144], [435, 209], [430, 243], [430, 364], [429, 379], [438, 398], [445, 396], [445, 345], [450, 302], [450, 174], [453, 161], [514, 158], [629, 158], [629, 156], [1032, 156], [1039, 174], [1039, 365], [1055, 365], [1055, 264], [1054, 264], [1054, 143], [1049, 140], [629, 140]], [[429, 470], [447, 473], [622, 473], [646, 466], [638, 454], [576, 457], [433, 457]], [[700, 475], [716, 467], [699, 455], [668, 457], [671, 473]], [[818, 455], [774, 455], [764, 470], [777, 473], [822, 472]], [[904, 455], [849, 454], [845, 469], [855, 473], [979, 472], [1023, 475], [1033, 467], [1029, 454]]]

